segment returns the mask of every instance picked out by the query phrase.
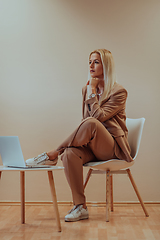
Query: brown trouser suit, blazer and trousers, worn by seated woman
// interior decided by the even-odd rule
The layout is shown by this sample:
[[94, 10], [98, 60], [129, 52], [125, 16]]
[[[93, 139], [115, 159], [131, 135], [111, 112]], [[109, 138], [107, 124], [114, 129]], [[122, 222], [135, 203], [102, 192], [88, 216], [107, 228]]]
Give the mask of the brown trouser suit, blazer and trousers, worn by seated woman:
[[85, 202], [83, 164], [111, 158], [132, 161], [125, 125], [127, 91], [115, 84], [109, 96], [99, 104], [97, 97], [86, 99], [82, 89], [83, 120], [57, 148], [65, 168], [75, 205]]

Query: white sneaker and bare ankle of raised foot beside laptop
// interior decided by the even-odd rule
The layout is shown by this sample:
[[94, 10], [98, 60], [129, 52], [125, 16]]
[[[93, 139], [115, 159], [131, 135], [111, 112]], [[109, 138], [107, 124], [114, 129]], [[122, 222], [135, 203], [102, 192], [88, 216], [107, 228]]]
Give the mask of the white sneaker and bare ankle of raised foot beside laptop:
[[38, 155], [37, 157], [30, 158], [26, 160], [27, 166], [36, 166], [36, 165], [56, 165], [58, 158], [54, 160], [49, 160], [49, 157], [46, 152]]

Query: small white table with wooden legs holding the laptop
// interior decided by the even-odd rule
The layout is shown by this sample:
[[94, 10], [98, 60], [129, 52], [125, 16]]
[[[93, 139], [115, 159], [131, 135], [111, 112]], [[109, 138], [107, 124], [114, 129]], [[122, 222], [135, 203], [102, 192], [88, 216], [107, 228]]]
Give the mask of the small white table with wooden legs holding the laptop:
[[61, 223], [59, 218], [59, 211], [58, 211], [58, 205], [57, 205], [57, 196], [56, 196], [56, 190], [54, 185], [54, 178], [53, 178], [53, 170], [62, 170], [63, 167], [59, 166], [52, 166], [49, 168], [11, 168], [11, 167], [4, 167], [0, 166], [0, 179], [1, 174], [3, 171], [19, 171], [20, 172], [20, 191], [21, 191], [21, 223], [25, 223], [25, 172], [27, 171], [47, 171], [48, 172], [48, 179], [50, 184], [50, 190], [52, 195], [52, 201], [53, 201], [53, 207], [55, 210], [56, 215], [56, 223], [58, 231], [61, 232]]

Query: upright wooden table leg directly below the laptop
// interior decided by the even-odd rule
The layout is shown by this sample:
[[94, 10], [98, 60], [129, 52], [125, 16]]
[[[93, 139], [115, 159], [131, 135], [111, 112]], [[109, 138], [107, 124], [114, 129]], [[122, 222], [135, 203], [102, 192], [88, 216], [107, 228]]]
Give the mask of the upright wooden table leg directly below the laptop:
[[20, 171], [20, 189], [21, 189], [21, 223], [25, 223], [25, 172]]

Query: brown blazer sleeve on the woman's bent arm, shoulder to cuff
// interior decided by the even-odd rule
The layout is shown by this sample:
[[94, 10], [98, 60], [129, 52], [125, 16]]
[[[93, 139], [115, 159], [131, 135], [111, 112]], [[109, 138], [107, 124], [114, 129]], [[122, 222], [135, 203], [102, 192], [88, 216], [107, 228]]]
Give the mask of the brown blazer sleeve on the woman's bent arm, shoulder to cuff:
[[100, 122], [105, 122], [125, 107], [126, 99], [127, 91], [122, 88], [111, 94], [102, 105], [99, 105], [97, 97], [87, 99], [85, 104], [90, 117], [94, 117]]

